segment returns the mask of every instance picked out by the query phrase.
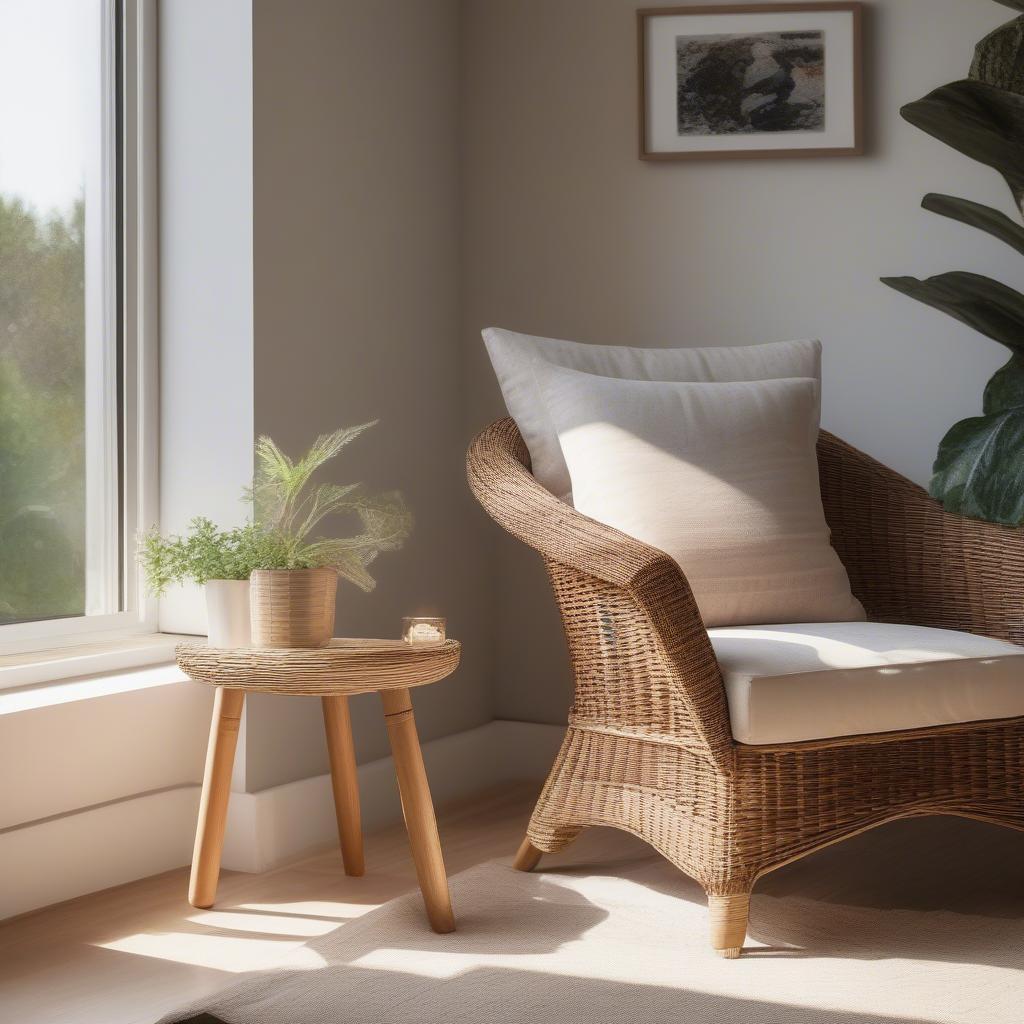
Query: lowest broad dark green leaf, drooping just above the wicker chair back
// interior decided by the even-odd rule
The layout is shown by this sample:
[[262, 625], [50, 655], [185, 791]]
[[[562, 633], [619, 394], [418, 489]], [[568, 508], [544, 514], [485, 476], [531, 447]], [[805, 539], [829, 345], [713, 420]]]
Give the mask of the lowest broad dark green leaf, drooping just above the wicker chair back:
[[1024, 409], [954, 424], [939, 445], [930, 489], [950, 512], [1024, 522]]

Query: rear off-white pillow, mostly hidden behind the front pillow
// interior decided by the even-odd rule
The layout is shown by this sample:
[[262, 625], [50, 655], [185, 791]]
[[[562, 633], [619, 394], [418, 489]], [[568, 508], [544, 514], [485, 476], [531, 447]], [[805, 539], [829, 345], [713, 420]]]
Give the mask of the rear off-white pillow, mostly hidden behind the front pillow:
[[818, 341], [779, 341], [740, 348], [627, 348], [536, 338], [494, 327], [482, 334], [505, 407], [529, 449], [534, 476], [566, 501], [571, 500], [568, 471], [540, 393], [538, 364], [635, 381], [821, 380]]

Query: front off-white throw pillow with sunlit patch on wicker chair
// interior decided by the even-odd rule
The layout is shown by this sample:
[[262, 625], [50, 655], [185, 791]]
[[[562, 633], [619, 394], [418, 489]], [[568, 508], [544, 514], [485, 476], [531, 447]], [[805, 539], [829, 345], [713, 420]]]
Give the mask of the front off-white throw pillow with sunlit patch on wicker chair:
[[707, 626], [864, 617], [821, 506], [814, 380], [536, 372], [575, 507], [671, 555]]

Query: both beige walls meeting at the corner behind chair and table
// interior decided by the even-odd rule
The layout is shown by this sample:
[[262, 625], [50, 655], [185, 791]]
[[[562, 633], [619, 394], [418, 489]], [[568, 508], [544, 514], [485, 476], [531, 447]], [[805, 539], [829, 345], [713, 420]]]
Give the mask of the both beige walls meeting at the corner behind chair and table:
[[[424, 691], [439, 735], [499, 717], [558, 722], [570, 699], [535, 556], [467, 497], [462, 453], [502, 413], [479, 329], [641, 345], [819, 336], [824, 422], [924, 481], [980, 408], [1001, 350], [889, 292], [884, 273], [1012, 254], [919, 209], [931, 189], [1008, 208], [1001, 182], [898, 117], [967, 68], [997, 4], [878, 0], [868, 155], [651, 165], [636, 159], [627, 0], [255, 0], [257, 431], [301, 449], [382, 424], [337, 478], [402, 487], [418, 513], [378, 590], [343, 588], [339, 632], [393, 635], [438, 608], [467, 640]], [[322, 772], [311, 701], [254, 701], [246, 787]], [[385, 752], [374, 698], [360, 757]]]

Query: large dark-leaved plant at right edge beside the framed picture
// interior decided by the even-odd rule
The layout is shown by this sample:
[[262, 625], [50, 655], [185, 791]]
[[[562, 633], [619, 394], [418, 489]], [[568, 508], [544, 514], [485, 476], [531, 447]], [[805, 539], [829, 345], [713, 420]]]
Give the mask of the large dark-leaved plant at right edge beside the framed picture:
[[[1024, 11], [1024, 0], [997, 0]], [[968, 78], [900, 111], [912, 125], [994, 168], [1024, 214], [1024, 15], [975, 48]], [[1024, 227], [998, 210], [930, 194], [922, 206], [998, 239], [1024, 254]], [[890, 288], [1006, 346], [1009, 361], [985, 388], [982, 415], [962, 420], [939, 443], [930, 490], [950, 511], [1017, 526], [1024, 522], [1024, 295], [966, 270], [883, 278]]]

